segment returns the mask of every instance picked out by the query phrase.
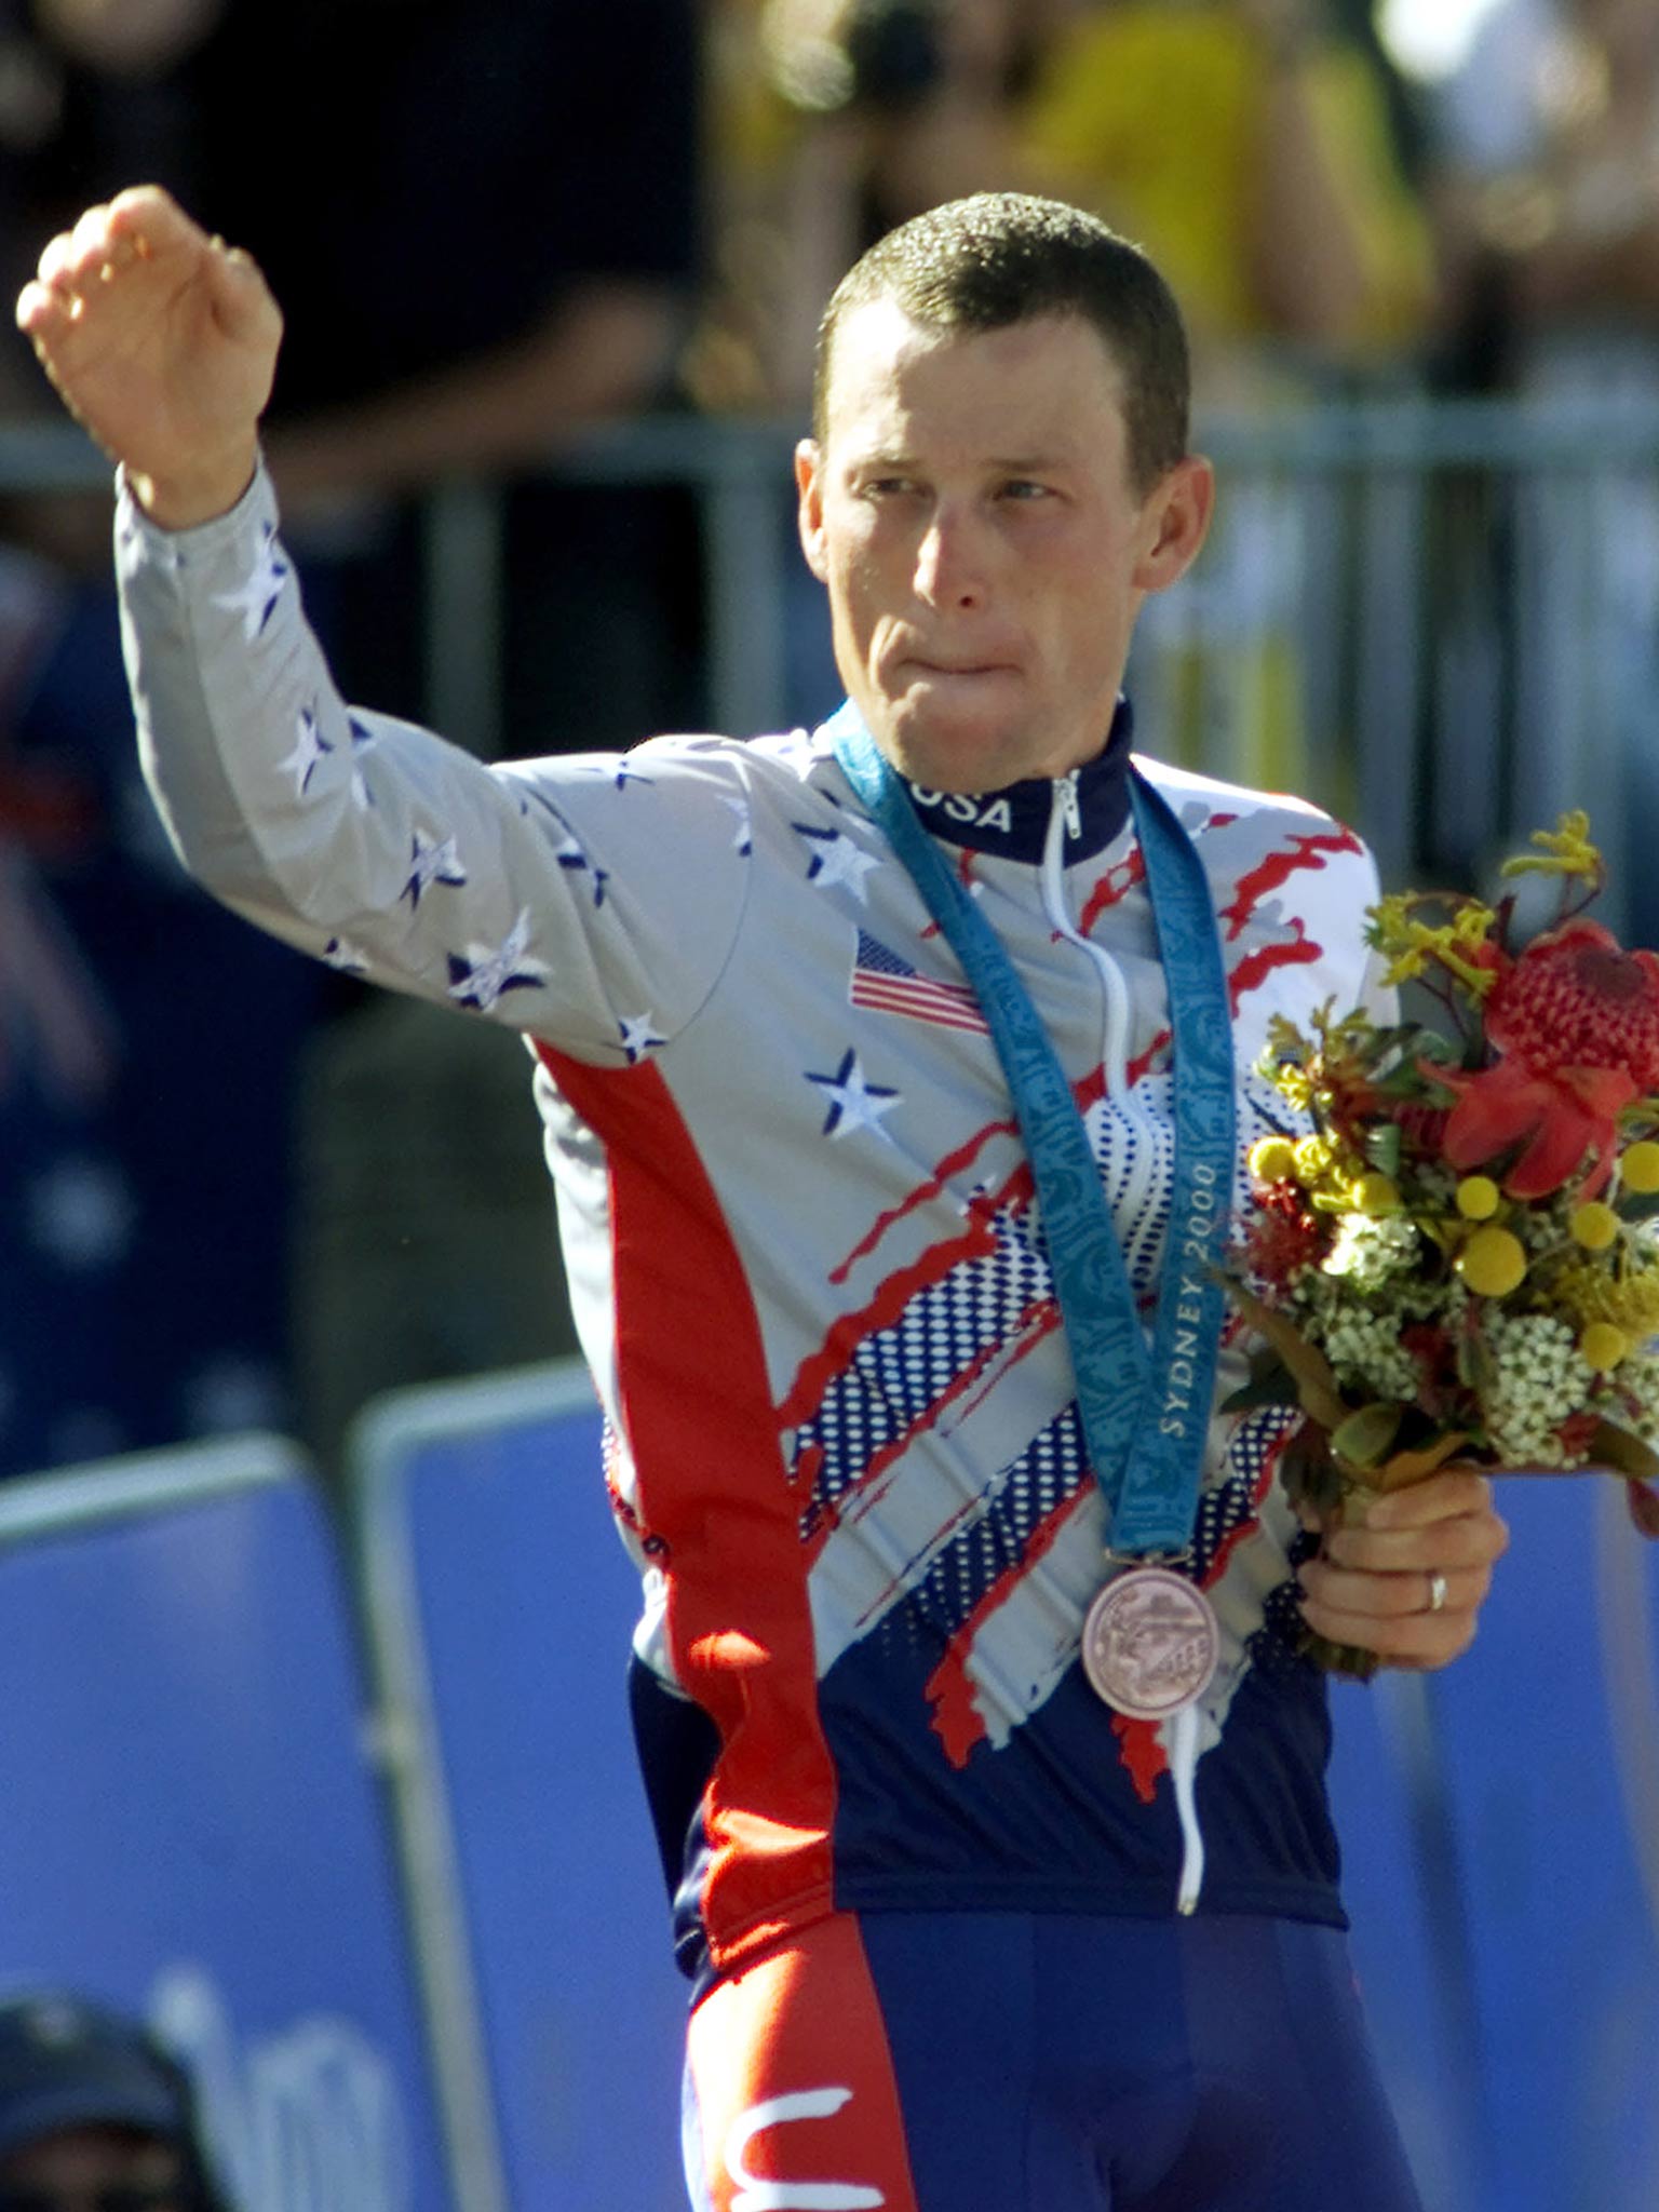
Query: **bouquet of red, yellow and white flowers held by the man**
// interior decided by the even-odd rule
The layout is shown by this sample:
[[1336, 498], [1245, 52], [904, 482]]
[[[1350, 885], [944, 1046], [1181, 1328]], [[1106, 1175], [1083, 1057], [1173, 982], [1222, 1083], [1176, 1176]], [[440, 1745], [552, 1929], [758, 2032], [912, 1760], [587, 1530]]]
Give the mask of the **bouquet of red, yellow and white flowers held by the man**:
[[1232, 1407], [1301, 1405], [1285, 1475], [1327, 1522], [1455, 1458], [1608, 1471], [1659, 1535], [1659, 956], [1584, 918], [1584, 814], [1533, 845], [1504, 876], [1559, 902], [1522, 949], [1513, 889], [1369, 909], [1385, 982], [1418, 980], [1447, 1033], [1327, 1004], [1267, 1037], [1287, 1113], [1225, 1261], [1263, 1338]]

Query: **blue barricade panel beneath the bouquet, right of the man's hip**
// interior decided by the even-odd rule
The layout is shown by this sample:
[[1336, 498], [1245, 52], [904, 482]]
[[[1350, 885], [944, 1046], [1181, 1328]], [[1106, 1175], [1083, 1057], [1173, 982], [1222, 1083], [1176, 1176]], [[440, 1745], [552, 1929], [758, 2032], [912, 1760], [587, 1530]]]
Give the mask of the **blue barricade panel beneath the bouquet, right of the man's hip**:
[[1431, 2212], [1659, 2205], [1659, 1546], [1511, 1480], [1473, 1652], [1338, 1690], [1360, 1978]]

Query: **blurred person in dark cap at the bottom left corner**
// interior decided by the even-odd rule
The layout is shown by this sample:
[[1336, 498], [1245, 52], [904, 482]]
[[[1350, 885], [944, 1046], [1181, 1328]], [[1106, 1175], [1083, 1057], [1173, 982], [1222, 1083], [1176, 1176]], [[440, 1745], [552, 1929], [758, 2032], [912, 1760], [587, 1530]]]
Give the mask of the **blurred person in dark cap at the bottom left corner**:
[[82, 1997], [0, 2004], [0, 2212], [228, 2212], [190, 2081]]

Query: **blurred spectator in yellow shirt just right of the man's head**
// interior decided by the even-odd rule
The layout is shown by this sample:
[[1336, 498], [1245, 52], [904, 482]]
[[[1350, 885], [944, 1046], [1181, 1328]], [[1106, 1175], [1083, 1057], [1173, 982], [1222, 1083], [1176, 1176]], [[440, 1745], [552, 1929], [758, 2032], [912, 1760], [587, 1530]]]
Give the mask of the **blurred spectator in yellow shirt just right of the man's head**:
[[[1398, 372], [1425, 330], [1429, 226], [1371, 46], [1318, 0], [1097, 0], [1020, 115], [1026, 175], [1168, 270], [1203, 414], [1263, 414]], [[1303, 580], [1329, 518], [1232, 471], [1186, 593], [1146, 608], [1130, 664], [1157, 750], [1332, 794], [1307, 757]]]

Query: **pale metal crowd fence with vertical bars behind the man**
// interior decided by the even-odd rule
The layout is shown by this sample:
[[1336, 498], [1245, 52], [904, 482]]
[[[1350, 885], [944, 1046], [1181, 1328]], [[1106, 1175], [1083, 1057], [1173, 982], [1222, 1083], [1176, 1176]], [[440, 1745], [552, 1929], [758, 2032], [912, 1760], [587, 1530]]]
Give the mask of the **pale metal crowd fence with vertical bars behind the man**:
[[[1141, 622], [1150, 750], [1334, 807], [1389, 880], [1471, 876], [1564, 805], [1644, 860], [1659, 400], [1325, 400], [1199, 429], [1219, 529]], [[790, 639], [814, 619], [790, 544], [794, 436], [659, 416], [549, 460], [564, 482], [695, 493], [710, 721], [732, 734], [787, 721]], [[106, 473], [73, 425], [0, 425], [0, 491]], [[489, 759], [520, 750], [502, 726], [502, 507], [491, 480], [425, 495], [427, 710]]]

